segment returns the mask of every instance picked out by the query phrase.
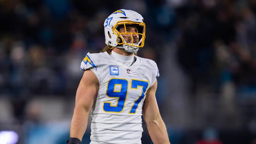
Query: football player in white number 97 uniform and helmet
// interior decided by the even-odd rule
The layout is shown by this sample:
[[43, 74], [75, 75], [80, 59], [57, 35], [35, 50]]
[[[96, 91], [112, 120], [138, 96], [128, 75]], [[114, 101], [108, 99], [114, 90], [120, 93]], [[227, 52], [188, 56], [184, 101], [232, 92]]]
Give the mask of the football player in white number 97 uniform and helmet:
[[144, 46], [143, 17], [120, 9], [104, 22], [106, 47], [87, 53], [68, 144], [81, 144], [91, 110], [90, 144], [141, 144], [142, 114], [154, 144], [170, 144], [155, 98], [158, 67], [136, 56]]

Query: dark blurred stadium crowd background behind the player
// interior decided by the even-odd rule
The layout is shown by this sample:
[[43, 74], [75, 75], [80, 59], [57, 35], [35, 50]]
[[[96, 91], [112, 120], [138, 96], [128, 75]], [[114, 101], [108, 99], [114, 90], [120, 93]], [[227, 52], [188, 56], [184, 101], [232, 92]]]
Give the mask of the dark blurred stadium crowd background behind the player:
[[256, 0], [0, 0], [0, 143], [65, 143], [80, 62], [121, 8], [145, 18], [171, 144], [255, 144]]

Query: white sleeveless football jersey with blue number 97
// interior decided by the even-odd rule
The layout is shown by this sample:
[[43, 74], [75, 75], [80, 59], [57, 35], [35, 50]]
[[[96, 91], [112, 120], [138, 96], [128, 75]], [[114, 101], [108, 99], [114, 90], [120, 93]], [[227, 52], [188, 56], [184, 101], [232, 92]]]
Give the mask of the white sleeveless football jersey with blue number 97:
[[140, 144], [142, 105], [146, 91], [159, 76], [153, 60], [134, 56], [127, 67], [107, 52], [87, 53], [81, 69], [90, 69], [99, 81], [91, 112], [91, 140], [110, 144]]

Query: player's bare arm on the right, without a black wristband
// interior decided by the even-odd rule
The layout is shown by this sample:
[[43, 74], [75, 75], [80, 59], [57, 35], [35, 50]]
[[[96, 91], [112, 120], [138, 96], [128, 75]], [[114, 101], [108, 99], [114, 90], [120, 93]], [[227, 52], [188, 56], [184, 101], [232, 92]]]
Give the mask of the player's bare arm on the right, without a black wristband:
[[165, 123], [159, 113], [155, 98], [157, 81], [148, 89], [143, 104], [143, 117], [147, 124], [149, 135], [154, 144], [170, 144]]

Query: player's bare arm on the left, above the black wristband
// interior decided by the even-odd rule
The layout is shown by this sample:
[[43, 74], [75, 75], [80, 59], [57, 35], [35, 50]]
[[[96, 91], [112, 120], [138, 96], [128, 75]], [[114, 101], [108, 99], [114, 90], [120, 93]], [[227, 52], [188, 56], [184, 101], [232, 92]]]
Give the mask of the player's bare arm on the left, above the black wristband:
[[91, 70], [86, 70], [78, 85], [74, 114], [70, 126], [70, 137], [82, 141], [88, 124], [88, 116], [98, 93], [99, 81]]

